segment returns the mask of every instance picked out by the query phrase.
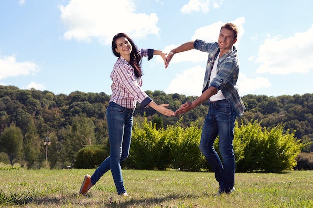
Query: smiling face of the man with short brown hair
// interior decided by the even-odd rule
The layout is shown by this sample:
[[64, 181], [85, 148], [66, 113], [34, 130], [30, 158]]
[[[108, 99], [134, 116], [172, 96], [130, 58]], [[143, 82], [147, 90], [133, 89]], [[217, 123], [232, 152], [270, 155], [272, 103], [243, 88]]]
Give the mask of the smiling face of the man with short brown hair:
[[218, 37], [218, 45], [221, 55], [230, 50], [236, 41], [237, 39], [234, 39], [234, 31], [222, 28]]

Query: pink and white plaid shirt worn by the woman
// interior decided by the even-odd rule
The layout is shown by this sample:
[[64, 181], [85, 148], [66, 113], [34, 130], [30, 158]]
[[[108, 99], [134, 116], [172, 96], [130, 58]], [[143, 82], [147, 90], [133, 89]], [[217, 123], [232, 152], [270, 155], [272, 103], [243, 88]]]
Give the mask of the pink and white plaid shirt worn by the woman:
[[[148, 49], [139, 51], [141, 57], [148, 56]], [[125, 108], [135, 108], [137, 101], [147, 107], [152, 99], [141, 89], [142, 79], [137, 78], [134, 68], [123, 58], [119, 57], [111, 72], [112, 95], [110, 102], [115, 102]]]

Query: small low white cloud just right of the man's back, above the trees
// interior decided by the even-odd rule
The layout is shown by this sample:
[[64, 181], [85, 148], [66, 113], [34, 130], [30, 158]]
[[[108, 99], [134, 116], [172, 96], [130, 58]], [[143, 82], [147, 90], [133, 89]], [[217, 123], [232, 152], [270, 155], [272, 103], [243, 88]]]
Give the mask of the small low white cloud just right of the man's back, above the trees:
[[267, 78], [256, 77], [255, 79], [247, 78], [244, 74], [239, 73], [239, 79], [237, 82], [237, 88], [239, 93], [249, 93], [254, 90], [271, 86], [271, 83]]

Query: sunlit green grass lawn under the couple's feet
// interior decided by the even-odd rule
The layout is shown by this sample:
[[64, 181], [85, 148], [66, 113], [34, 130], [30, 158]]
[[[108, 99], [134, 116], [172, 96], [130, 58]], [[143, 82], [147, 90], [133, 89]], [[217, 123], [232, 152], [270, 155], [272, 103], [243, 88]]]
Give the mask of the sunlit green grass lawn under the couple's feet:
[[[236, 191], [215, 196], [213, 173], [123, 170], [131, 195], [117, 195], [111, 172], [86, 196], [78, 196], [85, 174], [94, 169], [0, 169], [0, 196], [27, 208], [312, 208], [313, 171], [236, 173]], [[24, 198], [23, 198], [24, 197]], [[23, 201], [24, 200], [24, 201]], [[20, 205], [21, 204], [21, 205]]]

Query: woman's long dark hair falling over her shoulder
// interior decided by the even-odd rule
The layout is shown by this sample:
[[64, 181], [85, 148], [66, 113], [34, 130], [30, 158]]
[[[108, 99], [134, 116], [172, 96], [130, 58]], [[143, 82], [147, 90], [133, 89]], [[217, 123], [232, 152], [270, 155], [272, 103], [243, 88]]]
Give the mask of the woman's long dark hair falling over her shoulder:
[[135, 75], [137, 78], [141, 77], [143, 75], [142, 69], [141, 69], [141, 56], [138, 53], [137, 46], [134, 44], [132, 39], [126, 35], [125, 33], [118, 33], [113, 37], [112, 41], [112, 51], [116, 57], [120, 57], [120, 53], [117, 53], [115, 48], [117, 48], [116, 45], [116, 40], [120, 37], [125, 37], [128, 39], [128, 42], [132, 45], [132, 51], [130, 53], [130, 65], [134, 68], [135, 70]]

